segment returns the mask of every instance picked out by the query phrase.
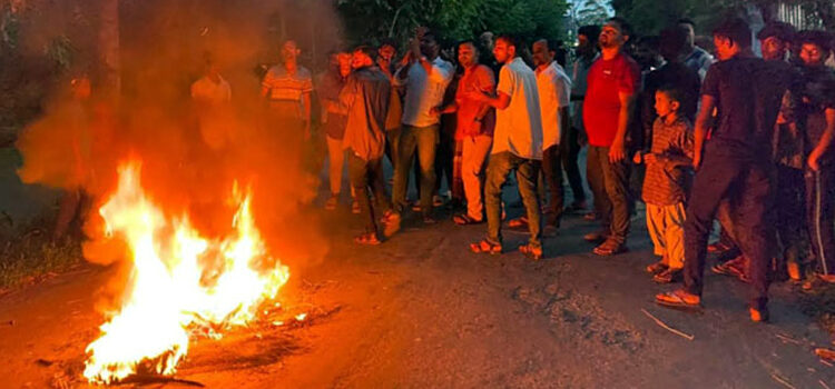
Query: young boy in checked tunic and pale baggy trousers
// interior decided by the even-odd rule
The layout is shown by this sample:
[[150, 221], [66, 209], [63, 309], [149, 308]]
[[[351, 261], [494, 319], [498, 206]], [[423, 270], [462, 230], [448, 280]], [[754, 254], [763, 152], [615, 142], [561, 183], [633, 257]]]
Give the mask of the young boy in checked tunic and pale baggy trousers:
[[682, 92], [671, 87], [655, 96], [658, 118], [652, 124], [649, 152], [637, 152], [635, 163], [646, 163], [642, 199], [647, 203], [647, 229], [656, 256], [647, 267], [659, 283], [677, 281], [685, 260], [685, 201], [692, 166], [692, 124], [681, 114]]

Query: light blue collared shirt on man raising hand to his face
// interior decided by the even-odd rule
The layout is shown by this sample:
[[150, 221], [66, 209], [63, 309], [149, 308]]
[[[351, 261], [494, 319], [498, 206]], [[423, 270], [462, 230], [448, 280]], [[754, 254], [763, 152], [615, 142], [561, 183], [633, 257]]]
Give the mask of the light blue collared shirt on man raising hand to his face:
[[401, 119], [403, 124], [413, 127], [438, 124], [441, 119], [429, 112], [443, 102], [444, 91], [452, 81], [453, 73], [452, 63], [438, 57], [432, 61], [432, 71], [429, 73], [421, 63], [415, 62], [409, 67], [405, 79], [394, 77], [395, 86], [403, 86], [406, 89]]

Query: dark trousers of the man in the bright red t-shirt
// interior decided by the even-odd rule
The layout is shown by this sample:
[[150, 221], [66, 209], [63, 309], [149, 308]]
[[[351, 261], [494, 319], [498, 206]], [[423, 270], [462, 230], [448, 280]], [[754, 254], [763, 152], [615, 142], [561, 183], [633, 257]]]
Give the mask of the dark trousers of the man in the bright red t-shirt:
[[603, 231], [619, 243], [629, 233], [629, 168], [626, 161], [609, 162], [609, 148], [589, 146], [586, 176], [600, 212]]

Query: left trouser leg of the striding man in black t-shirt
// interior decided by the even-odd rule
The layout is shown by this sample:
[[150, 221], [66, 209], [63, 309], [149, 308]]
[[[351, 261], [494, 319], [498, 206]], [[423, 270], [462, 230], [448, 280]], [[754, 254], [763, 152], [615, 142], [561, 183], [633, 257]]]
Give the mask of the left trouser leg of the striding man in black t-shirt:
[[701, 296], [707, 238], [714, 216], [740, 169], [737, 161], [709, 158], [694, 179], [691, 192], [698, 196], [690, 198], [685, 220], [685, 290], [691, 295]]

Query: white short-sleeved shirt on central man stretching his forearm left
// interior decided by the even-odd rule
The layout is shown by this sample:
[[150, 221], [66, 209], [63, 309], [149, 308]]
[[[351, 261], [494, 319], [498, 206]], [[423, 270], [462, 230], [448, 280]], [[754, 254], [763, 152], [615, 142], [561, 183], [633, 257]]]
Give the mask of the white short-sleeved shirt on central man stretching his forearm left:
[[495, 112], [492, 153], [510, 151], [525, 159], [542, 159], [542, 117], [537, 74], [517, 57], [499, 71], [497, 91], [510, 97], [510, 104]]

